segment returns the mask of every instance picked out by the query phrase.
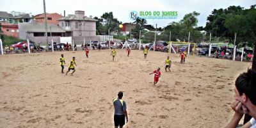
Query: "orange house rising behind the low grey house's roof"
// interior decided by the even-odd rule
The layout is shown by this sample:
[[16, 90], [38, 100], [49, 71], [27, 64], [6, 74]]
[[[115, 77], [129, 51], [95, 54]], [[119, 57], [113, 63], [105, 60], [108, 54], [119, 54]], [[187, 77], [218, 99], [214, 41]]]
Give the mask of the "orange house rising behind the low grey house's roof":
[[[58, 13], [46, 13], [47, 24], [59, 24], [57, 19], [62, 18], [63, 16]], [[44, 24], [44, 13], [35, 15], [34, 20], [38, 24]]]

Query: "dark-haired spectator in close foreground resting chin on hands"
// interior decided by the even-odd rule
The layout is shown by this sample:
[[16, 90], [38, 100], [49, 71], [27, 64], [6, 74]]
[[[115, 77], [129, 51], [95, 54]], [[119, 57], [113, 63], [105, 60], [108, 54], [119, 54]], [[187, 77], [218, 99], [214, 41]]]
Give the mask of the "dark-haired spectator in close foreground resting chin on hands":
[[252, 116], [250, 122], [244, 124], [244, 127], [256, 127], [256, 72], [249, 69], [240, 74], [234, 86], [234, 99], [231, 108], [234, 110], [234, 116], [227, 125], [227, 128], [236, 128], [244, 114]]

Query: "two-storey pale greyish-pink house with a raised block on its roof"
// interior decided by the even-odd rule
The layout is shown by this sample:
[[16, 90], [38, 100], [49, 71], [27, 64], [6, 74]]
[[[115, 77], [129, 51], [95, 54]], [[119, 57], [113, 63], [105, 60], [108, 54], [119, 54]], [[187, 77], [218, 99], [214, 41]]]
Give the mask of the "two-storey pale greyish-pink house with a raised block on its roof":
[[76, 11], [75, 15], [68, 15], [58, 20], [59, 26], [67, 31], [68, 35], [66, 36], [73, 36], [74, 38], [96, 36], [97, 20], [92, 19], [92, 16], [86, 17], [84, 11]]

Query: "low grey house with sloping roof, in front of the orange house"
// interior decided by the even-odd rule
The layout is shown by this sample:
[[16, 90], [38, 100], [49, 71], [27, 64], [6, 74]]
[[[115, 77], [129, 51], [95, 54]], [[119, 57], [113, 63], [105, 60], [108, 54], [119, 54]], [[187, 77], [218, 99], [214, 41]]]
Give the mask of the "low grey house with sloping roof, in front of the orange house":
[[[45, 42], [45, 28], [44, 24], [32, 23], [19, 23], [19, 38], [22, 40], [29, 40], [33, 42], [42, 43]], [[54, 42], [60, 42], [60, 36], [65, 36], [65, 30], [57, 26], [56, 24], [47, 24], [47, 36], [48, 42], [53, 40]]]

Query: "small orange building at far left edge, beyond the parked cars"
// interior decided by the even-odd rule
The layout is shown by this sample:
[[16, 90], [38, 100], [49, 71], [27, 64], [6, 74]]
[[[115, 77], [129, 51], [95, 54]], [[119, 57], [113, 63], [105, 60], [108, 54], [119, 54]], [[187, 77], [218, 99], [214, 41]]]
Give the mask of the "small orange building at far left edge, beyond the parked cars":
[[1, 23], [2, 31], [4, 35], [13, 36], [15, 38], [19, 38], [19, 28], [18, 24], [10, 24], [10, 23]]

